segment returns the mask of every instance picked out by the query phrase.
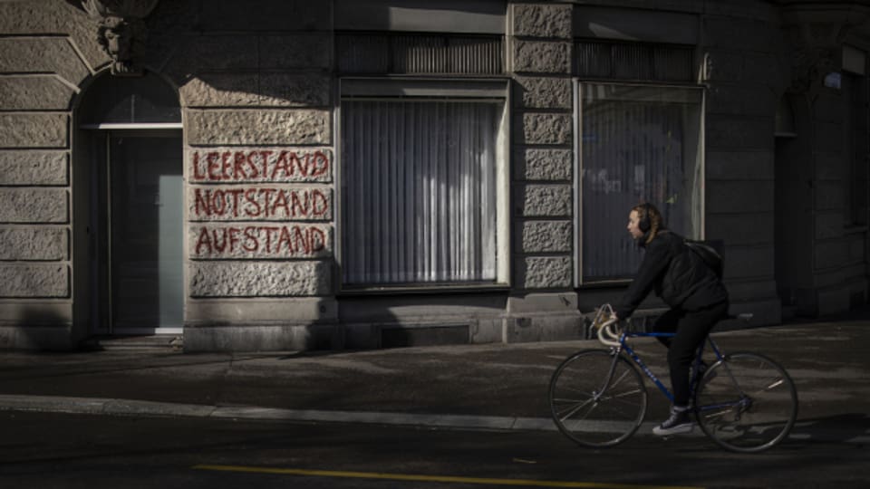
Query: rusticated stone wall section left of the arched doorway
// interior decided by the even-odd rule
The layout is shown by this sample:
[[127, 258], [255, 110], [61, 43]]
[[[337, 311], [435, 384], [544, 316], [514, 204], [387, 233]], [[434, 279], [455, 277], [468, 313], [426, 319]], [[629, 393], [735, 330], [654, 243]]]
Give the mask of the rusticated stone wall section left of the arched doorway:
[[106, 61], [73, 5], [0, 3], [0, 348], [72, 344], [71, 109]]

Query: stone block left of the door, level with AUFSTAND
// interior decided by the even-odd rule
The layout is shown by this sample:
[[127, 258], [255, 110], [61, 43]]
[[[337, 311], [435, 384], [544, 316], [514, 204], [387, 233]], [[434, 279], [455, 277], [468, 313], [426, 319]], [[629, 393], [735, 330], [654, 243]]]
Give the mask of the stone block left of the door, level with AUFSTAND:
[[63, 227], [0, 228], [0, 260], [66, 260], [68, 235]]

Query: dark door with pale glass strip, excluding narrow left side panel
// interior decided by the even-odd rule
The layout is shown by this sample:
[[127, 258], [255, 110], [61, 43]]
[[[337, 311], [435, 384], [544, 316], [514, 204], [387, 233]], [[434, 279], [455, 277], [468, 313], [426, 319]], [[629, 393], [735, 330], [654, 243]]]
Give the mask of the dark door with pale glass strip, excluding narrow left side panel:
[[108, 135], [113, 333], [183, 323], [181, 135], [149, 132]]

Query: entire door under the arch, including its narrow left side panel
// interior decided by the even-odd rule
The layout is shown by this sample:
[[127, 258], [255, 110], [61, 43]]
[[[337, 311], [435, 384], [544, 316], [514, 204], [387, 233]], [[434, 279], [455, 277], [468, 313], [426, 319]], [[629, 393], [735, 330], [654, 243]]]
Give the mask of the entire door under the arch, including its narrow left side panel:
[[180, 333], [184, 308], [180, 130], [92, 139], [93, 333]]

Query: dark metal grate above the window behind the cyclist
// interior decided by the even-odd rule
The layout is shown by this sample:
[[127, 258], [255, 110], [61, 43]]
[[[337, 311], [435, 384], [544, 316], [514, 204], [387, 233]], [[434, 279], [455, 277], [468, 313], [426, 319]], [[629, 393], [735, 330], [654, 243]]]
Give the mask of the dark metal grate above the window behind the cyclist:
[[587, 79], [691, 82], [691, 46], [640, 43], [575, 43], [577, 76]]

